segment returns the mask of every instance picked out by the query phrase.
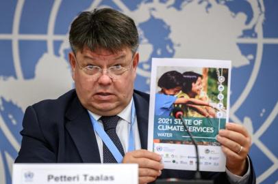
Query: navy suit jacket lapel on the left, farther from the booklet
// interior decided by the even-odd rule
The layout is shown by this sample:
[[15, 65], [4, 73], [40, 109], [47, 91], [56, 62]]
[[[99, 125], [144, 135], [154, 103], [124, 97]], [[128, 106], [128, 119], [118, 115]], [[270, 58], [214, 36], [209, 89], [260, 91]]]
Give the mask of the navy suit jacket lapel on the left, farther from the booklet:
[[71, 138], [73, 138], [73, 142], [75, 142], [83, 162], [101, 163], [99, 147], [89, 114], [87, 110], [81, 106], [77, 96], [75, 96], [72, 104], [70, 104], [66, 112], [66, 118], [68, 119], [66, 129], [71, 135]]

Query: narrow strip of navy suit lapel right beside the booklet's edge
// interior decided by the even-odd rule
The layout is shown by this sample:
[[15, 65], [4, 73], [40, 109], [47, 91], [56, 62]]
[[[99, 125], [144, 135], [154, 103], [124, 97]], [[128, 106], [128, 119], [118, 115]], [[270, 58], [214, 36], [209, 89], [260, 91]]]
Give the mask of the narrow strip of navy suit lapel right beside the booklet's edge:
[[136, 118], [140, 135], [142, 149], [147, 149], [148, 141], [148, 121], [149, 121], [149, 101], [134, 93], [134, 105], [136, 108]]

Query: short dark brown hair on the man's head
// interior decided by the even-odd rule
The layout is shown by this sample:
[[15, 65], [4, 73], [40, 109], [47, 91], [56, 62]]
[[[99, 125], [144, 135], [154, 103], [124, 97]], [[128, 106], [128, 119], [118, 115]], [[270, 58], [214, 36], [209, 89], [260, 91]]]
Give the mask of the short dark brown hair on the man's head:
[[105, 49], [117, 52], [127, 47], [133, 54], [139, 41], [134, 20], [129, 16], [105, 7], [92, 12], [81, 12], [71, 24], [69, 42], [73, 52], [84, 47], [95, 51]]

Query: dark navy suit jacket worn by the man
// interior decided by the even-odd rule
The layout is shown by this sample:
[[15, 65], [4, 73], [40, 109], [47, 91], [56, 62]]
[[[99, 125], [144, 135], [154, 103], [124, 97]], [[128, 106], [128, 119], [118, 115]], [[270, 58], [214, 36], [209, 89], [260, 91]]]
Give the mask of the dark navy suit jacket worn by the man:
[[[149, 95], [134, 91], [142, 149], [147, 149]], [[16, 163], [100, 163], [99, 148], [87, 110], [75, 90], [58, 99], [29, 106], [23, 119], [23, 140]], [[229, 183], [225, 172], [202, 172], [203, 179]], [[193, 171], [163, 170], [160, 178], [192, 179]], [[251, 166], [249, 183], [255, 183]]]

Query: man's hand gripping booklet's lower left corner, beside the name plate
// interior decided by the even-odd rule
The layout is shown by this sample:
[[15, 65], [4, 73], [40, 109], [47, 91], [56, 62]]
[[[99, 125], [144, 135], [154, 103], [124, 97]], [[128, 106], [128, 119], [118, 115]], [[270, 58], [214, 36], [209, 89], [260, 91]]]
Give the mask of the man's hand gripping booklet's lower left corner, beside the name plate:
[[157, 153], [140, 149], [125, 153], [123, 163], [139, 165], [139, 183], [141, 184], [155, 181], [160, 176], [161, 170], [164, 168], [160, 163], [161, 159]]

